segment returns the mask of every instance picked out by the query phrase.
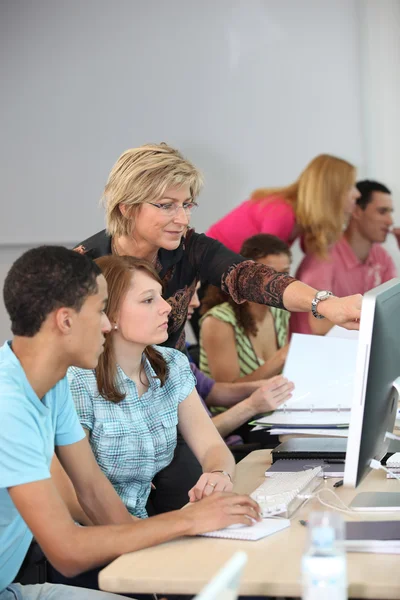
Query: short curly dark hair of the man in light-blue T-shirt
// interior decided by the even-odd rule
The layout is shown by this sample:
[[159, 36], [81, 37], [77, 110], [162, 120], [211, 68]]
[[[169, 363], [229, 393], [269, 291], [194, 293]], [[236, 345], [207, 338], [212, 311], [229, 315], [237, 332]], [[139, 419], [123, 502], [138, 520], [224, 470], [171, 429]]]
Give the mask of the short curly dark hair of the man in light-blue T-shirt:
[[14, 262], [4, 282], [11, 331], [33, 337], [56, 308], [79, 311], [87, 296], [97, 293], [100, 274], [88, 256], [63, 246], [28, 250]]

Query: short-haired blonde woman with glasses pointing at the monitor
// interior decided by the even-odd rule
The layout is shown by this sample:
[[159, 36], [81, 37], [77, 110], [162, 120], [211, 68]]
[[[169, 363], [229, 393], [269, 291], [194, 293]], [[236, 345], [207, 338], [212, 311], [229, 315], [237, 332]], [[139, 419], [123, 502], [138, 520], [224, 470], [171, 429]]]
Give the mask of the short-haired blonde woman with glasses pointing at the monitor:
[[[315, 289], [190, 228], [201, 187], [199, 171], [174, 148], [149, 144], [127, 150], [105, 187], [107, 229], [76, 250], [91, 258], [128, 255], [153, 264], [172, 309], [166, 345], [173, 348], [184, 349], [188, 306], [199, 280], [220, 287], [238, 303], [310, 312]], [[335, 324], [357, 329], [361, 296], [331, 296], [319, 302], [318, 310]]]

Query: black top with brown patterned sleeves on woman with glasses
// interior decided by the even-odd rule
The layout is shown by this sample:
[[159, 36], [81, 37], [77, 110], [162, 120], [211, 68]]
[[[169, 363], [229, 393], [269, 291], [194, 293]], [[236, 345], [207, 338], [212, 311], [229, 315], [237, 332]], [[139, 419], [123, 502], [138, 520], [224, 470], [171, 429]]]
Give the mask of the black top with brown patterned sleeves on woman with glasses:
[[[75, 250], [91, 258], [112, 254], [111, 237], [100, 231], [76, 246]], [[176, 250], [158, 251], [155, 265], [163, 283], [164, 297], [172, 306], [168, 340], [165, 346], [183, 350], [184, 326], [190, 299], [198, 281], [207, 281], [229, 294], [240, 304], [246, 300], [283, 306], [283, 292], [295, 281], [286, 273], [247, 260], [228, 250], [217, 240], [189, 229]]]

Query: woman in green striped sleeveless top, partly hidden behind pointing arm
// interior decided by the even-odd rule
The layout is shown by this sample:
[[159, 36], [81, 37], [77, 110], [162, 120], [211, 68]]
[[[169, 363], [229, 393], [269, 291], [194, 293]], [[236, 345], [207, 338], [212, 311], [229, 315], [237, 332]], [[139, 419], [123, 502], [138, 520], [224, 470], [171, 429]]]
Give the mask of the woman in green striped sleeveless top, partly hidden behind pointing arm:
[[[246, 240], [245, 258], [288, 273], [288, 245], [273, 235]], [[225, 301], [224, 301], [225, 300]], [[251, 302], [236, 304], [209, 286], [202, 301], [200, 369], [216, 381], [257, 381], [282, 371], [288, 350], [289, 313]]]

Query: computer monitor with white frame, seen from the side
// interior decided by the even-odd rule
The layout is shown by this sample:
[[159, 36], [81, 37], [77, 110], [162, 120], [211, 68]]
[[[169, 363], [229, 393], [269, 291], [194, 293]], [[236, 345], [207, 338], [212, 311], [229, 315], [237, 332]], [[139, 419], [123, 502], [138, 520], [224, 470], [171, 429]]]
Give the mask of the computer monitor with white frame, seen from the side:
[[[395, 424], [399, 377], [400, 279], [392, 279], [367, 292], [362, 301], [346, 486], [358, 486], [371, 469], [371, 459], [381, 461], [387, 452], [390, 440], [386, 432], [392, 433]], [[387, 499], [374, 502], [378, 500], [387, 504]], [[400, 494], [398, 501], [400, 507]]]

